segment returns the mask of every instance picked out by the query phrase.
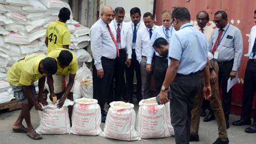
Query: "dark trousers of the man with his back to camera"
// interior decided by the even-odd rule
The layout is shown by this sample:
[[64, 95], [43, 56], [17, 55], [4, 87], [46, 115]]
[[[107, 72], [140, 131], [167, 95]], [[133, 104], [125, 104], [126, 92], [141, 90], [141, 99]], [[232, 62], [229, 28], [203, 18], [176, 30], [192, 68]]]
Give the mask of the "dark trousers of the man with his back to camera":
[[191, 110], [201, 89], [201, 74], [176, 75], [169, 92], [171, 124], [176, 144], [189, 144]]

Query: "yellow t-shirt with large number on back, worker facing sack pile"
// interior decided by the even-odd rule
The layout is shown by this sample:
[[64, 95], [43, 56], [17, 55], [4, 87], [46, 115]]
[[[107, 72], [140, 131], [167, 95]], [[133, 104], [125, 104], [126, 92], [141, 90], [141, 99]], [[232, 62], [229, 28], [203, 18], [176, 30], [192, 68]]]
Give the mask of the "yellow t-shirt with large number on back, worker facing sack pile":
[[46, 37], [48, 37], [47, 54], [56, 48], [63, 45], [70, 45], [70, 31], [67, 28], [67, 24], [56, 20], [49, 24], [46, 29]]

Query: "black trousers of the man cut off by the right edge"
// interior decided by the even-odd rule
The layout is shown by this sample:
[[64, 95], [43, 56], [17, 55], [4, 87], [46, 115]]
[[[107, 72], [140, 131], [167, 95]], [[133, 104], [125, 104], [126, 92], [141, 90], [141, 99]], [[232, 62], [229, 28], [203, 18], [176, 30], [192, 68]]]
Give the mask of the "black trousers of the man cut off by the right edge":
[[[244, 74], [243, 84], [243, 109], [241, 118], [250, 120], [250, 110], [252, 107], [253, 97], [256, 92], [256, 60], [249, 59]], [[256, 125], [256, 109], [254, 110], [253, 124]]]

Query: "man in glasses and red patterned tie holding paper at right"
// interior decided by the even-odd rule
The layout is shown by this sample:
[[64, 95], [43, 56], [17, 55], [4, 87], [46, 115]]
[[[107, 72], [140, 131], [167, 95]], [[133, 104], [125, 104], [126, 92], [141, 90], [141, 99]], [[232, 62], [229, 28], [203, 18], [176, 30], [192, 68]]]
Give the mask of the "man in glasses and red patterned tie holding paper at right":
[[222, 85], [222, 106], [229, 128], [229, 113], [231, 108], [232, 88], [227, 92], [228, 79], [234, 79], [243, 54], [243, 38], [240, 30], [228, 23], [228, 15], [217, 11], [214, 16], [216, 29], [209, 39], [209, 51], [214, 55], [219, 65], [219, 85]]

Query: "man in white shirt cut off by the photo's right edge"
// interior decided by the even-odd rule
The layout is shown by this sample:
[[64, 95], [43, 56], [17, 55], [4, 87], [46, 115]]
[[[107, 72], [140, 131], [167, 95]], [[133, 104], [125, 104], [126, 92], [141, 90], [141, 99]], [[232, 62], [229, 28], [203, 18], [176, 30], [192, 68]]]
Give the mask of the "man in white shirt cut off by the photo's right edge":
[[[256, 23], [256, 10], [254, 11], [254, 21]], [[250, 125], [250, 110], [253, 97], [256, 92], [256, 26], [251, 28], [249, 39], [249, 60], [244, 74], [243, 84], [243, 109], [241, 119], [233, 122], [233, 125]], [[256, 133], [256, 109], [254, 110], [253, 125], [245, 129], [247, 133]]]

